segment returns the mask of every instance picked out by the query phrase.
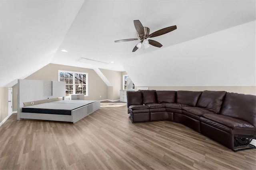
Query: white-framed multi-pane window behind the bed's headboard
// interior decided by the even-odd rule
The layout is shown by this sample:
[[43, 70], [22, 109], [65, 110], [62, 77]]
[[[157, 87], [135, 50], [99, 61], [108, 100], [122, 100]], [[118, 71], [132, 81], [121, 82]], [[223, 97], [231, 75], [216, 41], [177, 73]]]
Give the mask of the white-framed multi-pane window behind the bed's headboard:
[[[66, 96], [70, 94], [88, 96], [88, 73], [59, 70], [58, 81], [66, 82]], [[79, 87], [80, 83], [82, 83], [82, 87]]]

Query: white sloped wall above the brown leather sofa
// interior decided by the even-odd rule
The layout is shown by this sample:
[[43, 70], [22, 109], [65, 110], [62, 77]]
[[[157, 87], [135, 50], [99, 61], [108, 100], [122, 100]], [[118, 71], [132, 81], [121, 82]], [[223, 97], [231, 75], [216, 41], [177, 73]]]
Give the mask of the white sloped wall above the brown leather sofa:
[[136, 86], [255, 86], [255, 63], [254, 20], [122, 65]]

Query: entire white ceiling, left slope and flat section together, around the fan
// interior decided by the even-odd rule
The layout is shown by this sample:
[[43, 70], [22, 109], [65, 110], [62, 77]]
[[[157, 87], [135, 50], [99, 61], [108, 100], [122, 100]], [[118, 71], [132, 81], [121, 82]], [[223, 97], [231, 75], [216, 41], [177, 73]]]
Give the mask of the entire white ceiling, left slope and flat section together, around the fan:
[[[0, 86], [26, 77], [48, 63], [124, 71], [120, 64], [124, 59], [256, 19], [255, 1], [244, 0], [0, 3]], [[132, 53], [137, 41], [114, 40], [136, 38], [133, 20], [140, 20], [151, 33], [173, 25], [177, 25], [177, 30], [152, 38], [162, 43], [162, 48], [150, 46]], [[80, 63], [76, 61], [80, 57], [114, 63]]]

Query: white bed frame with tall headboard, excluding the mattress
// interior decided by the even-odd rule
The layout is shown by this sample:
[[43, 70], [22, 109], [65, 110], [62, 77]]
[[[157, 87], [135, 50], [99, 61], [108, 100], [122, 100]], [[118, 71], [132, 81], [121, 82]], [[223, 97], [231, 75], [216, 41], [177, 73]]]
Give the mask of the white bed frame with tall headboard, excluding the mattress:
[[75, 123], [100, 108], [100, 101], [71, 111], [71, 115], [23, 113], [23, 103], [62, 97], [65, 100], [66, 83], [61, 81], [18, 80], [17, 119], [39, 119]]

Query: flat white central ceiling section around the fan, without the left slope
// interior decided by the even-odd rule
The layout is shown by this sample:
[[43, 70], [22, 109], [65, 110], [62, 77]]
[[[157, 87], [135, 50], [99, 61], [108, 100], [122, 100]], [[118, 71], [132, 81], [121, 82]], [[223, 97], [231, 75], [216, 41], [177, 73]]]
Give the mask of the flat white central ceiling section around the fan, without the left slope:
[[[255, 20], [255, 2], [225, 0], [180, 1], [86, 1], [70, 27], [53, 63], [79, 67], [92, 67], [78, 63], [80, 57], [114, 64], [98, 66], [124, 71], [120, 61], [154, 50], [137, 50], [139, 41], [114, 43], [114, 40], [136, 38], [133, 20], [155, 32], [177, 25], [177, 30], [152, 38], [168, 47], [213, 32]], [[95, 67], [95, 66], [94, 66]]]

